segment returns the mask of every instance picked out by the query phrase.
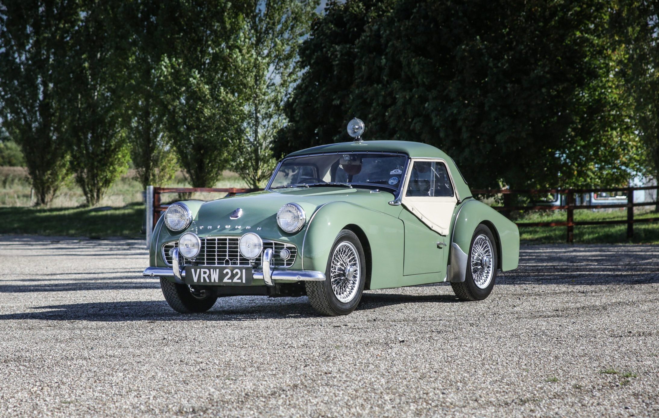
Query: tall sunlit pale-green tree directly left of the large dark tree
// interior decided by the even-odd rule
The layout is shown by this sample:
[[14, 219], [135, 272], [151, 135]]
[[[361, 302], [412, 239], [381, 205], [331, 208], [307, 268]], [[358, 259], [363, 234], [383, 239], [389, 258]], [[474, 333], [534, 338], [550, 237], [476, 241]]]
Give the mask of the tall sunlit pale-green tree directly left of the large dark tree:
[[285, 124], [283, 104], [299, 79], [299, 45], [318, 0], [254, 0], [245, 10], [241, 73], [247, 84], [244, 134], [231, 144], [231, 167], [250, 187], [259, 187], [275, 165], [272, 141]]

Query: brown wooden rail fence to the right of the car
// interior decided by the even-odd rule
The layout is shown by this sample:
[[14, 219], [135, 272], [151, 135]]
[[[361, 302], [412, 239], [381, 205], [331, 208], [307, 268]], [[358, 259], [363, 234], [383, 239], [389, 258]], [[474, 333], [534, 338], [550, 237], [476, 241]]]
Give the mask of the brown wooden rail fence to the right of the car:
[[[657, 186], [646, 187], [621, 187], [609, 189], [544, 189], [544, 190], [473, 190], [474, 194], [503, 194], [503, 206], [492, 206], [492, 208], [502, 212], [504, 215], [509, 216], [513, 210], [565, 210], [565, 222], [517, 222], [517, 226], [565, 226], [567, 227], [567, 242], [574, 241], [574, 228], [579, 225], [610, 225], [610, 224], [627, 224], [627, 238], [634, 236], [634, 224], [638, 222], [655, 222], [659, 221], [659, 217], [655, 218], [639, 218], [634, 219], [634, 208], [637, 206], [651, 206], [656, 202], [634, 202], [635, 191], [656, 190]], [[627, 203], [623, 204], [575, 204], [575, 194], [583, 193], [602, 193], [602, 192], [626, 192]], [[536, 206], [513, 206], [511, 202], [515, 194], [565, 194], [565, 205], [552, 206], [536, 205]], [[607, 208], [627, 208], [627, 219], [621, 220], [602, 220], [602, 221], [580, 221], [575, 222], [574, 212], [575, 209], [607, 209]]]

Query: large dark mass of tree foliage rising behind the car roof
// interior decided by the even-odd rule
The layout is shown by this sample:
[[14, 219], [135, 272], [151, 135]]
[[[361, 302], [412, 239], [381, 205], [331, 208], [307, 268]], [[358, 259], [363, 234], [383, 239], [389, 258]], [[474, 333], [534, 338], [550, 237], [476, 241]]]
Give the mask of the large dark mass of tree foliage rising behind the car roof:
[[275, 151], [367, 139], [438, 146], [475, 187], [626, 183], [637, 167], [606, 0], [330, 3]]

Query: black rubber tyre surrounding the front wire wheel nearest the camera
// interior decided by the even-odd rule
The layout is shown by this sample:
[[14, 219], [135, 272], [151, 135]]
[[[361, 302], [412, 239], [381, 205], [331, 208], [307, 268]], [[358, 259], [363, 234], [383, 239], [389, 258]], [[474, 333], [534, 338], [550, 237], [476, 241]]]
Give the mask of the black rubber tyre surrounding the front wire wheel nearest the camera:
[[[345, 243], [349, 243], [352, 247], [345, 245]], [[358, 265], [358, 270], [354, 273], [358, 276], [357, 285], [355, 286], [357, 291], [348, 301], [340, 301], [332, 289], [331, 262], [333, 254], [335, 254], [335, 250], [339, 246], [349, 249], [354, 248], [358, 256], [358, 260], [355, 262]], [[309, 298], [311, 306], [319, 313], [328, 316], [347, 315], [355, 311], [355, 308], [359, 305], [359, 301], [362, 299], [364, 283], [366, 282], [366, 257], [364, 256], [362, 244], [353, 231], [343, 229], [334, 240], [334, 245], [332, 245], [331, 251], [329, 251], [325, 276], [326, 280], [322, 282], [304, 282], [306, 295]], [[354, 289], [355, 287], [352, 288]]]

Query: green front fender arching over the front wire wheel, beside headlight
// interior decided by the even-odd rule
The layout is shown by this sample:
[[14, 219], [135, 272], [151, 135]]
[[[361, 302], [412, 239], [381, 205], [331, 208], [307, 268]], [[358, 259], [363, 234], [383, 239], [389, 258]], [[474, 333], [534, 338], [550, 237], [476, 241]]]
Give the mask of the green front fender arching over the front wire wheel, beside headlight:
[[[398, 212], [399, 213], [399, 212]], [[349, 202], [329, 202], [309, 219], [302, 241], [302, 268], [324, 272], [331, 247], [341, 229], [352, 229], [362, 242], [370, 289], [398, 287], [403, 277], [403, 222], [391, 214]]]

